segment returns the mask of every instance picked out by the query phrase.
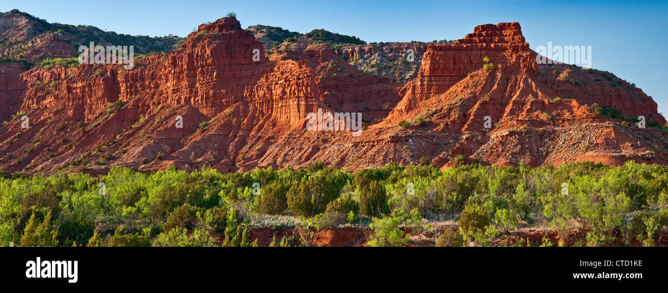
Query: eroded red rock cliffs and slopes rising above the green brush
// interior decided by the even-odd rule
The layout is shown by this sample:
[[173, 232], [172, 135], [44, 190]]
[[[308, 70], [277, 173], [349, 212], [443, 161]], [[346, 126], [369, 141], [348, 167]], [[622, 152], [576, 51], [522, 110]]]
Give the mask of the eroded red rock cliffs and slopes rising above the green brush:
[[[663, 126], [651, 97], [607, 72], [537, 64], [519, 23], [479, 25], [456, 42], [415, 47], [424, 55], [409, 82], [363, 74], [341, 56], [367, 46], [309, 45], [267, 58], [263, 43], [226, 17], [200, 25], [169, 54], [134, 60], [130, 70], [3, 63], [0, 119], [8, 122], [0, 126], [0, 167], [235, 172], [323, 161], [354, 171], [421, 157], [446, 168], [458, 155], [484, 165], [667, 163], [665, 133], [624, 126], [592, 106]], [[483, 68], [485, 57], [494, 70]], [[307, 114], [319, 108], [361, 112], [364, 130], [307, 131]]]

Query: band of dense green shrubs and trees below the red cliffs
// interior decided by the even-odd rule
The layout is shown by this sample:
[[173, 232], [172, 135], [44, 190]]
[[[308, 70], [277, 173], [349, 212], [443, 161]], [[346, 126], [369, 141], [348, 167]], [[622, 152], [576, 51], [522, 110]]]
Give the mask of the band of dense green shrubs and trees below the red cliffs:
[[[0, 245], [251, 246], [263, 219], [297, 217], [301, 229], [368, 225], [371, 246], [403, 246], [400, 229], [458, 221], [439, 246], [490, 245], [540, 223], [590, 227], [579, 245], [620, 237], [645, 246], [668, 219], [668, 166], [572, 163], [562, 167], [397, 164], [347, 173], [322, 163], [304, 170], [214, 169], [108, 175], [0, 176]], [[104, 185], [102, 184], [104, 183]], [[288, 225], [279, 223], [276, 225]], [[273, 245], [298, 245], [276, 239]]]

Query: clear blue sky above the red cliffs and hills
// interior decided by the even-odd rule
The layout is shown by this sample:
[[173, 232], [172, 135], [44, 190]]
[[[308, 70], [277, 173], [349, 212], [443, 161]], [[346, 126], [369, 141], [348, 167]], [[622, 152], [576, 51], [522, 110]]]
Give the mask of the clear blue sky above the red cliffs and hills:
[[327, 29], [365, 41], [459, 39], [476, 25], [516, 21], [531, 48], [591, 45], [592, 67], [635, 83], [668, 115], [668, 2], [649, 1], [53, 1], [0, 3], [49, 22], [131, 35], [186, 36], [236, 12], [242, 27]]

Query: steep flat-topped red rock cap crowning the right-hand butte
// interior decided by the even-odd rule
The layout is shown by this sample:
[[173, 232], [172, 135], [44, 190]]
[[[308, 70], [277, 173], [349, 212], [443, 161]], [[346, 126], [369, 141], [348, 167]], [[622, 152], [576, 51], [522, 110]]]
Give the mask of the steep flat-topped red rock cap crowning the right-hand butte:
[[[537, 72], [534, 55], [524, 41], [519, 23], [478, 25], [473, 33], [454, 44], [429, 45], [421, 77], [446, 78], [454, 84], [484, 65], [483, 58], [508, 74]], [[451, 84], [451, 85], [452, 85]]]

